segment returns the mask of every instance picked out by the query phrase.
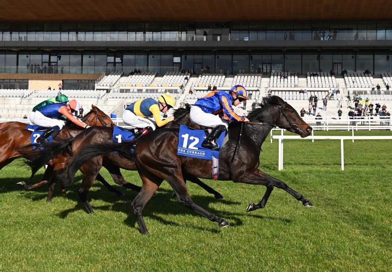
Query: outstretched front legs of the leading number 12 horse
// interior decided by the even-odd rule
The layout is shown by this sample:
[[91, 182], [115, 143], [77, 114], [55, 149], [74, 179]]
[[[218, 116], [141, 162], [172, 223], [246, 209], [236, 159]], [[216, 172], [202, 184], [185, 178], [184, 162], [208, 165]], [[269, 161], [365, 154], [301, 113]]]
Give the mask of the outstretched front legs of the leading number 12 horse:
[[247, 184], [253, 184], [253, 185], [264, 185], [267, 187], [267, 191], [264, 194], [264, 197], [261, 199], [261, 201], [258, 204], [253, 204], [253, 203], [249, 204], [248, 207], [246, 208], [247, 212], [264, 208], [267, 204], [268, 198], [270, 198], [270, 194], [273, 190], [273, 187], [282, 189], [285, 192], [289, 193], [295, 199], [301, 201], [305, 207], [312, 207], [313, 206], [313, 204], [308, 199], [304, 198], [301, 194], [294, 191], [286, 183], [284, 183], [283, 181], [281, 181], [277, 178], [274, 178], [264, 172], [261, 172], [258, 169], [253, 172], [250, 172], [250, 173], [245, 172], [241, 176], [235, 177], [235, 179], [233, 181], [247, 183]]

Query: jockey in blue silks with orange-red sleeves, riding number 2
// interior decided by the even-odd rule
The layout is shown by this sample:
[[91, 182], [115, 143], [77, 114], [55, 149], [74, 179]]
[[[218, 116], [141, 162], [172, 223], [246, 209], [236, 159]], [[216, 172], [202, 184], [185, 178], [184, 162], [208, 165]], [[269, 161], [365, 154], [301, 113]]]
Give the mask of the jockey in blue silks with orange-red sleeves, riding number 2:
[[84, 128], [90, 127], [89, 125], [83, 123], [82, 121], [73, 116], [72, 113], [77, 112], [79, 108], [79, 102], [73, 99], [69, 101], [68, 104], [60, 102], [45, 105], [38, 109], [35, 112], [33, 120], [31, 120], [31, 122], [35, 125], [51, 126], [51, 128], [46, 130], [45, 133], [37, 139], [37, 143], [45, 141], [45, 139], [47, 139], [50, 135], [52, 135], [53, 138], [57, 136], [60, 129], [63, 128], [65, 124], [64, 121], [59, 120], [59, 117], [61, 117], [62, 115], [64, 115], [73, 124]]

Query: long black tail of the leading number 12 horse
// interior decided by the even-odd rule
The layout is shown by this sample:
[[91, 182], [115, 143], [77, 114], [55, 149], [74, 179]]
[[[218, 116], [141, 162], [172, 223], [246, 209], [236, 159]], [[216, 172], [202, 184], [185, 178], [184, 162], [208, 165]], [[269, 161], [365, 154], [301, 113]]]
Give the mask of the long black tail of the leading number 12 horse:
[[73, 183], [73, 179], [77, 170], [82, 167], [87, 161], [104, 155], [113, 151], [119, 153], [128, 160], [134, 159], [134, 154], [131, 148], [138, 140], [124, 142], [124, 143], [103, 143], [103, 144], [92, 144], [86, 145], [81, 148], [80, 151], [73, 156], [68, 167], [57, 172], [57, 177], [64, 186], [70, 186]]

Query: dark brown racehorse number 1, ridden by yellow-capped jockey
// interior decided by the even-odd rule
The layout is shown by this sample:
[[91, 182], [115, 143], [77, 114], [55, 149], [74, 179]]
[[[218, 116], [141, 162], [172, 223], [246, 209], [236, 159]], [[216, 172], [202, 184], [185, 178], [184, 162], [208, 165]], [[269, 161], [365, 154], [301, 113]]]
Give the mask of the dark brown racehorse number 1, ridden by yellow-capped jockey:
[[[190, 119], [189, 119], [189, 110], [190, 107], [189, 105], [186, 108], [179, 108], [175, 110], [174, 112], [174, 120], [175, 122], [170, 122], [167, 124], [165, 127], [178, 127], [179, 124], [191, 124]], [[86, 129], [85, 131], [81, 132], [78, 134], [72, 141], [72, 150], [73, 154], [77, 154], [79, 150], [89, 144], [98, 144], [98, 143], [110, 143], [112, 141], [113, 137], [113, 128], [112, 127], [90, 127]], [[143, 138], [143, 137], [142, 137]], [[53, 160], [54, 162], [54, 171], [59, 171], [61, 169], [65, 169], [68, 166], [68, 162], [71, 161], [71, 157], [69, 157], [69, 160], [63, 159], [60, 157], [60, 160], [56, 158], [56, 155], [59, 153], [59, 151], [64, 148], [64, 144], [69, 143], [70, 141], [68, 140], [62, 140], [58, 141], [57, 143], [54, 144], [44, 144], [44, 150], [41, 151], [36, 158], [34, 158], [31, 162], [28, 164], [31, 167], [32, 173], [36, 173], [38, 169], [40, 169], [43, 165], [47, 164], [50, 159]], [[137, 167], [135, 165], [135, 162], [133, 160], [128, 160], [122, 156], [119, 156], [117, 153], [109, 153], [106, 155], [101, 155], [98, 157], [93, 158], [92, 160], [86, 162], [83, 165], [84, 169], [84, 174], [83, 174], [83, 180], [81, 187], [78, 191], [78, 195], [82, 200], [82, 203], [86, 207], [86, 210], [88, 213], [94, 213], [89, 201], [87, 200], [87, 194], [91, 188], [91, 186], [94, 183], [94, 180], [96, 179], [96, 176], [105, 164], [112, 165], [114, 167], [120, 167], [125, 170], [137, 170]], [[76, 170], [77, 171], [77, 170]], [[75, 171], [75, 172], [76, 172]], [[72, 174], [72, 178], [74, 176], [74, 173]], [[184, 175], [184, 180], [189, 180], [193, 183], [196, 183], [203, 189], [205, 189], [208, 193], [213, 194], [215, 198], [223, 198], [222, 195], [209, 187], [207, 184], [203, 183], [200, 181], [198, 178], [192, 176], [192, 175]], [[72, 179], [73, 181], [73, 179]], [[71, 182], [72, 182], [71, 181]], [[51, 194], [53, 192], [53, 187], [55, 184], [55, 179], [52, 179], [50, 181], [50, 186], [49, 186], [49, 196], [48, 198], [51, 198]], [[134, 186], [134, 185], [133, 185]], [[133, 188], [131, 188], [133, 189]], [[140, 191], [140, 187], [139, 190]]]

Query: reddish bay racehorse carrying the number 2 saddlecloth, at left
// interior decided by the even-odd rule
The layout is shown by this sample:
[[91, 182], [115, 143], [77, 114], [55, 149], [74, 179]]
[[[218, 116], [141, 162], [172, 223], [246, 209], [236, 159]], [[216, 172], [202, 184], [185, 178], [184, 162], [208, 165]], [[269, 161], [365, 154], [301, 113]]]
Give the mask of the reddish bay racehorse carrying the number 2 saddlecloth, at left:
[[[112, 120], [104, 113], [102, 112], [98, 107], [92, 105], [92, 110], [85, 115], [85, 117], [82, 119], [86, 124], [89, 124], [91, 126], [94, 125], [100, 125], [100, 126], [113, 126], [114, 123]], [[8, 124], [6, 124], [8, 123]], [[19, 157], [25, 157], [27, 159], [32, 159], [34, 156], [38, 153], [37, 151], [31, 150], [31, 147], [27, 150], [26, 148], [21, 148], [25, 147], [26, 145], [31, 143], [31, 131], [26, 130], [25, 127], [27, 124], [20, 123], [20, 122], [6, 122], [2, 123], [4, 124], [2, 127], [8, 127], [5, 129], [0, 130], [0, 139], [3, 139], [2, 141], [2, 147], [0, 148], [0, 169], [2, 169], [4, 166], [8, 165], [11, 163], [13, 160]], [[64, 126], [64, 128], [60, 131], [58, 134], [57, 139], [61, 138], [72, 138], [76, 136], [82, 129], [80, 127], [76, 127], [73, 124], [67, 124]], [[38, 150], [38, 149], [37, 149]], [[118, 172], [116, 172], [116, 169], [114, 169], [111, 172], [113, 178], [119, 178], [117, 177]], [[44, 174], [44, 181], [34, 184], [34, 185], [26, 185], [24, 182], [19, 183], [22, 185], [27, 190], [35, 189], [37, 187], [40, 187], [42, 185], [47, 184], [46, 180], [49, 180], [51, 174], [53, 173], [53, 167], [49, 166]], [[121, 173], [120, 173], [121, 175]], [[115, 188], [113, 188], [110, 184], [108, 184], [101, 175], [98, 175], [98, 180], [101, 181], [111, 192], [116, 193], [117, 195], [123, 195], [122, 192], [119, 192]], [[48, 199], [50, 201], [50, 199]]]

